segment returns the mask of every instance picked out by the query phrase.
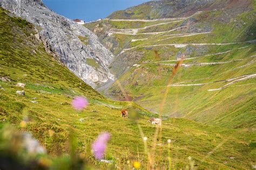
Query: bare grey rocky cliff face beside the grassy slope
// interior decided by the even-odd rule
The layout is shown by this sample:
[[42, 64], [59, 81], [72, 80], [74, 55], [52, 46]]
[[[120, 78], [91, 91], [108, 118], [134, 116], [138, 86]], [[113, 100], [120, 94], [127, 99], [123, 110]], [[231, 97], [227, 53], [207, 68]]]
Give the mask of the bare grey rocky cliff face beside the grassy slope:
[[96, 87], [114, 79], [108, 68], [112, 53], [84, 26], [53, 12], [41, 0], [3, 0], [2, 6], [37, 25], [46, 47], [86, 83]]

